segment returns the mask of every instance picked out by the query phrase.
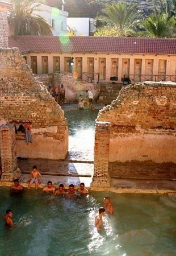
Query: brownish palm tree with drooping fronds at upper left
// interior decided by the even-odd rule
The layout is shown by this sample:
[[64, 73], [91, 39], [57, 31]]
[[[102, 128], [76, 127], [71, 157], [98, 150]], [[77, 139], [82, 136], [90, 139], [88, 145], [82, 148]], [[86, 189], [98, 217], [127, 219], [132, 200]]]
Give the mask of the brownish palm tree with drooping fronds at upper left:
[[51, 26], [41, 18], [33, 15], [38, 7], [31, 5], [28, 0], [12, 0], [13, 6], [10, 10], [8, 21], [14, 28], [14, 35], [52, 35]]

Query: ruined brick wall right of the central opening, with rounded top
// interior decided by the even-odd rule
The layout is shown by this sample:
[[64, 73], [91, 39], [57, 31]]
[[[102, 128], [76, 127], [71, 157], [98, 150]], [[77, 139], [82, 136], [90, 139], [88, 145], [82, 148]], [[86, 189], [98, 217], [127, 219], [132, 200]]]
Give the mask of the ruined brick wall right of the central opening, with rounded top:
[[175, 83], [127, 86], [98, 121], [111, 122], [110, 162], [176, 163]]

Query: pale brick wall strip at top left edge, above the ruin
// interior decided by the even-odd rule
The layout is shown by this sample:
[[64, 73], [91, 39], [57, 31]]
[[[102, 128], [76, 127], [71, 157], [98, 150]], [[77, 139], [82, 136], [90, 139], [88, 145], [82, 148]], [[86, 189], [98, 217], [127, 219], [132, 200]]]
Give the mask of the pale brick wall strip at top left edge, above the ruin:
[[0, 47], [8, 47], [7, 12], [0, 10]]

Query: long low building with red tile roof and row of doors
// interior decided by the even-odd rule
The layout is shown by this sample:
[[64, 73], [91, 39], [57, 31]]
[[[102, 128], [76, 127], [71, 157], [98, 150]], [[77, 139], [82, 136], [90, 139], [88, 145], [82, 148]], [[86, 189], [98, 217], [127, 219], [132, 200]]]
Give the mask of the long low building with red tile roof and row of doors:
[[149, 38], [104, 38], [86, 36], [19, 36], [9, 38], [19, 47], [33, 73], [69, 72], [79, 80], [117, 82], [173, 81], [176, 79], [176, 40]]

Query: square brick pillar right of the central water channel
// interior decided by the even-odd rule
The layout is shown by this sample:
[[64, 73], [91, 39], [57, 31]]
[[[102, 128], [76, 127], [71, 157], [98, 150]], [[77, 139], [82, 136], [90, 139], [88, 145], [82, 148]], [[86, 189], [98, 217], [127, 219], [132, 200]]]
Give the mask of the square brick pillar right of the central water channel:
[[110, 122], [95, 123], [94, 176], [91, 186], [110, 187], [108, 174], [110, 148]]

